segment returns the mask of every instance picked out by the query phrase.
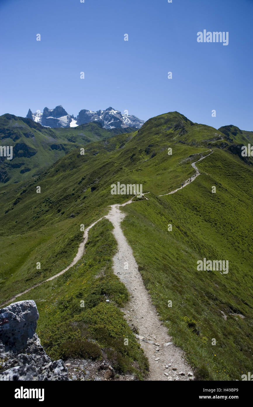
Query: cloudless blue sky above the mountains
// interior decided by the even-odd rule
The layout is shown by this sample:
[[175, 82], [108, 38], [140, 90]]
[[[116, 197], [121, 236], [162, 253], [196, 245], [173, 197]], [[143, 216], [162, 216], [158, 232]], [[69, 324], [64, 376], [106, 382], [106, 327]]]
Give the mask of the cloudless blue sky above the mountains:
[[[0, 114], [177, 110], [253, 130], [253, 0], [0, 0], [0, 14]], [[198, 43], [204, 29], [228, 46]]]

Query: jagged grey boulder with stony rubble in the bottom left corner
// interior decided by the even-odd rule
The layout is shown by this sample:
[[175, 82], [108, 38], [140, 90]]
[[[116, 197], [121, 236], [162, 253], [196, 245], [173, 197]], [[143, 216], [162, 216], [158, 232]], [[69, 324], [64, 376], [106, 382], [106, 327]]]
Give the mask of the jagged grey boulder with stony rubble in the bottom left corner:
[[11, 380], [69, 380], [63, 361], [52, 361], [35, 333], [39, 313], [32, 300], [0, 309], [0, 374]]

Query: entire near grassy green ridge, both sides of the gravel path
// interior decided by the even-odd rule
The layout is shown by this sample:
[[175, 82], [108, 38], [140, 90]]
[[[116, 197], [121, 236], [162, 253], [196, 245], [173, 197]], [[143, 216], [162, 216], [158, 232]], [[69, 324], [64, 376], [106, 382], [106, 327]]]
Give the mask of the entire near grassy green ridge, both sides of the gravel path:
[[[238, 154], [242, 138], [226, 131], [171, 112], [139, 131], [89, 143], [85, 155], [76, 148], [37, 177], [1, 186], [0, 302], [71, 263], [80, 225], [128, 199], [112, 195], [111, 184], [143, 184], [148, 200], [122, 208], [128, 214], [122, 227], [160, 318], [199, 379], [240, 380], [251, 369], [253, 350], [253, 160]], [[179, 188], [195, 173], [190, 164], [211, 149], [197, 163], [201, 175], [194, 182], [158, 196]], [[52, 357], [67, 357], [77, 341], [77, 352], [111, 351], [120, 372], [142, 378], [146, 359], [119, 311], [128, 293], [112, 273], [111, 231], [107, 220], [97, 223], [79, 263], [18, 300], [35, 300], [38, 333]], [[228, 260], [229, 272], [197, 271], [203, 258]], [[122, 346], [126, 334], [130, 347]], [[91, 339], [97, 348], [89, 348]]]

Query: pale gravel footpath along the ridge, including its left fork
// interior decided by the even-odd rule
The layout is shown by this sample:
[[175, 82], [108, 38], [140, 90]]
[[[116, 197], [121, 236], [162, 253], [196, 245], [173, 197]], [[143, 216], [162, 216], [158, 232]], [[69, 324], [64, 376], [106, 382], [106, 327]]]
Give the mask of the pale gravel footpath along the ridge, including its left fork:
[[[212, 154], [209, 153], [208, 155]], [[196, 166], [196, 163], [203, 160], [208, 155], [201, 155], [201, 158], [196, 162], [193, 162], [191, 165], [195, 169], [196, 173], [191, 177], [191, 180], [194, 181], [198, 175], [200, 175], [199, 170]], [[186, 185], [190, 184], [190, 178], [184, 182], [184, 185], [176, 190], [159, 196], [170, 195], [177, 192], [179, 189], [184, 188]], [[143, 196], [148, 194], [144, 193]], [[132, 197], [133, 199], [134, 197]], [[187, 373], [191, 371], [190, 365], [186, 363], [184, 359], [184, 352], [182, 349], [175, 346], [172, 342], [172, 337], [167, 333], [167, 328], [162, 325], [158, 317], [155, 306], [152, 304], [151, 297], [144, 286], [140, 272], [138, 271], [138, 265], [134, 258], [132, 248], [128, 244], [125, 235], [121, 229], [121, 221], [126, 216], [120, 209], [121, 206], [125, 206], [132, 203], [132, 199], [125, 202], [124, 204], [114, 204], [110, 206], [108, 214], [97, 221], [93, 222], [86, 230], [84, 231], [83, 241], [80, 243], [76, 257], [72, 263], [60, 271], [58, 274], [44, 280], [40, 283], [35, 284], [29, 289], [13, 296], [9, 301], [5, 302], [1, 306], [12, 302], [20, 295], [23, 295], [35, 287], [44, 282], [53, 280], [54, 278], [61, 276], [65, 273], [70, 267], [74, 266], [78, 260], [80, 260], [85, 251], [85, 244], [88, 240], [89, 230], [102, 219], [108, 219], [114, 229], [112, 233], [115, 236], [115, 239], [118, 244], [118, 251], [113, 257], [113, 271], [119, 277], [121, 282], [125, 284], [125, 287], [130, 293], [130, 301], [126, 306], [121, 309], [125, 314], [125, 319], [127, 320], [129, 326], [138, 328], [137, 339], [140, 341], [141, 347], [144, 350], [145, 355], [149, 361], [149, 374], [146, 380], [159, 380], [159, 381], [172, 381], [180, 380], [186, 381], [189, 380]], [[148, 200], [147, 197], [145, 199]], [[125, 262], [128, 263], [128, 269], [125, 269]], [[165, 367], [167, 365], [167, 368]], [[174, 368], [174, 370], [172, 370]], [[185, 375], [179, 375], [180, 372], [184, 372]]]

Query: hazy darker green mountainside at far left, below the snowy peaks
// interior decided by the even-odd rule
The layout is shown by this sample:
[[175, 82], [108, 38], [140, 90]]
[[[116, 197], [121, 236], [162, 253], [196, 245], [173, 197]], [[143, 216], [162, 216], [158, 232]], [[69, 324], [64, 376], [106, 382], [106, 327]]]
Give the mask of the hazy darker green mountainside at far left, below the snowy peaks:
[[[132, 130], [127, 129], [128, 132]], [[0, 182], [13, 183], [31, 178], [76, 147], [125, 132], [121, 128], [107, 131], [100, 123], [50, 129], [28, 118], [4, 114], [0, 116], [0, 144], [13, 146], [13, 159], [0, 157]]]

